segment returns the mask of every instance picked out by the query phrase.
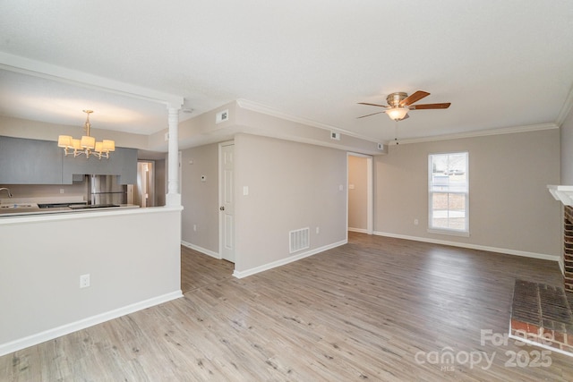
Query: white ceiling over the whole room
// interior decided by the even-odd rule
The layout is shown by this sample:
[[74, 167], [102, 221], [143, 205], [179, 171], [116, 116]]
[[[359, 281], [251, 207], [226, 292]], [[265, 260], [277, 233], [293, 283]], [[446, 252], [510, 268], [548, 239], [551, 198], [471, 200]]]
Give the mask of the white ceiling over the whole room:
[[[0, 115], [80, 126], [90, 108], [150, 134], [167, 95], [180, 120], [243, 98], [374, 141], [557, 123], [572, 26], [570, 0], [3, 2]], [[451, 106], [357, 119], [418, 89]]]

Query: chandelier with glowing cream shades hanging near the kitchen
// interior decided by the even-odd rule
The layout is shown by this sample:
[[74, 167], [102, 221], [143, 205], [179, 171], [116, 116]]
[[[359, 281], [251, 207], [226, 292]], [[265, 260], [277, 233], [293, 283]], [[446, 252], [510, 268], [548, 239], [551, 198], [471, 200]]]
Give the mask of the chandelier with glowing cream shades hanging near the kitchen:
[[[90, 155], [98, 157], [101, 159], [105, 157], [109, 159], [109, 153], [115, 151], [115, 141], [114, 140], [102, 140], [101, 142], [96, 142], [94, 137], [90, 136], [90, 114], [93, 110], [84, 110], [86, 114], [86, 122], [83, 123], [83, 130], [86, 135], [81, 137], [81, 140], [75, 140], [70, 135], [60, 135], [57, 138], [57, 146], [64, 149], [64, 153], [73, 154], [73, 157], [80, 157], [85, 155], [90, 157]], [[68, 149], [73, 149], [73, 152], [69, 152]]]

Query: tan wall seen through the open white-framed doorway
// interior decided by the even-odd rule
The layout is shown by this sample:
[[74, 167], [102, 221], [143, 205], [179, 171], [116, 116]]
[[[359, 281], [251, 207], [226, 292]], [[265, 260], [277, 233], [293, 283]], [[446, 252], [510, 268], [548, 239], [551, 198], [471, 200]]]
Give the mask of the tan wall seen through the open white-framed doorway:
[[348, 229], [350, 231], [365, 232], [368, 228], [367, 177], [366, 158], [348, 156]]

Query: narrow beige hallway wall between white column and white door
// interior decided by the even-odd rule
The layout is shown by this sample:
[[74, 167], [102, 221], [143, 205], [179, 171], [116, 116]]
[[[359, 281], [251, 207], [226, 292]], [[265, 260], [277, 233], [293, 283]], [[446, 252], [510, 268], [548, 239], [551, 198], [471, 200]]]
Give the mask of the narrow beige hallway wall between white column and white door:
[[181, 168], [182, 239], [218, 253], [218, 144], [183, 150]]

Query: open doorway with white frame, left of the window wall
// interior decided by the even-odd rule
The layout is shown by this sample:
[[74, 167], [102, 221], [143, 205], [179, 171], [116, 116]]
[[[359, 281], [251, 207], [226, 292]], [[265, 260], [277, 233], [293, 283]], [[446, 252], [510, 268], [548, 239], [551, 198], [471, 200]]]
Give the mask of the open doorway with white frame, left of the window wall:
[[347, 228], [373, 233], [373, 159], [363, 154], [347, 154]]

